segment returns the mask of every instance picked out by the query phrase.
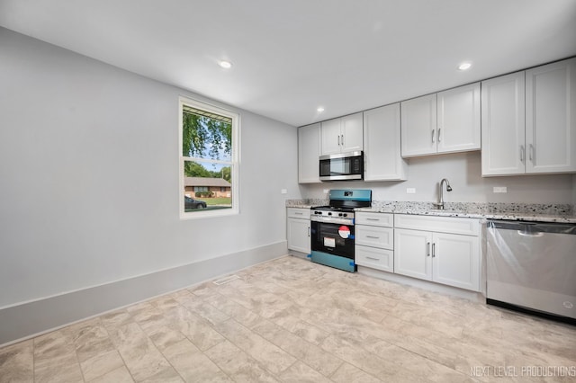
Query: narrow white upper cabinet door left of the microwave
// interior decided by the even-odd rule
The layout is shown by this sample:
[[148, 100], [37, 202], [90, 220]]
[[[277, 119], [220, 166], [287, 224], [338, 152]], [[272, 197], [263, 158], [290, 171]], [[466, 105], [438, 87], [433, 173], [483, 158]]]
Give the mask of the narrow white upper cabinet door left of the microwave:
[[320, 123], [298, 129], [298, 182], [320, 183]]

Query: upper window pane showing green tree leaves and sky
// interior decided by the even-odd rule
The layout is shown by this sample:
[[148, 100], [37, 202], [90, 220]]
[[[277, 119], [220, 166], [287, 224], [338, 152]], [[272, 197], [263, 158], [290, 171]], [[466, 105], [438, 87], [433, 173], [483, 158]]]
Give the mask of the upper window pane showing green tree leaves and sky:
[[182, 156], [232, 160], [232, 124], [227, 117], [209, 117], [193, 108], [182, 114]]

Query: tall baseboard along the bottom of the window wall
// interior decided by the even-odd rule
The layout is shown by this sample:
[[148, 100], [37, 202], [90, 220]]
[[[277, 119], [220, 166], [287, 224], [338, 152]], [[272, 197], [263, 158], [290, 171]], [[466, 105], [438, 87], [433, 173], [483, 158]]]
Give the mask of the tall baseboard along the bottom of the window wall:
[[0, 309], [0, 347], [288, 253], [286, 241]]

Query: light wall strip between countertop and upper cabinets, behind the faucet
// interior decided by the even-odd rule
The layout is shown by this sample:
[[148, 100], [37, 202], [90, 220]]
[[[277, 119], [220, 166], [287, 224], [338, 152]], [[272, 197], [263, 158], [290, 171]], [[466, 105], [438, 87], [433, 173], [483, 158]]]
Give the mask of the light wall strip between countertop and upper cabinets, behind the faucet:
[[[572, 174], [482, 177], [480, 152], [410, 158], [408, 181], [380, 183], [320, 183], [301, 185], [305, 198], [325, 198], [324, 189], [365, 188], [374, 200], [437, 201], [437, 185], [447, 178], [453, 191], [444, 192], [449, 202], [573, 203], [576, 176]], [[494, 186], [508, 192], [494, 193]], [[416, 194], [407, 194], [415, 188]]]

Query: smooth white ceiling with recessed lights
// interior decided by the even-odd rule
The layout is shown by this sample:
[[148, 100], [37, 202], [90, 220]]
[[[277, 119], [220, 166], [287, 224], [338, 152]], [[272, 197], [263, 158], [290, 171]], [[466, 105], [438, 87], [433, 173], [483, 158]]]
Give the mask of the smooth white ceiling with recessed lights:
[[295, 126], [576, 55], [575, 0], [0, 0], [0, 25]]

